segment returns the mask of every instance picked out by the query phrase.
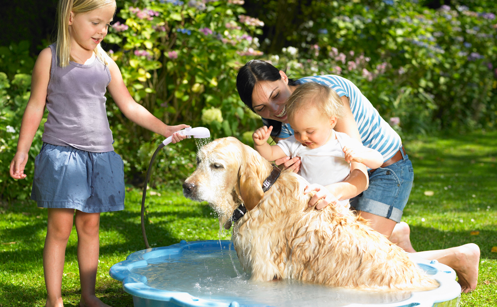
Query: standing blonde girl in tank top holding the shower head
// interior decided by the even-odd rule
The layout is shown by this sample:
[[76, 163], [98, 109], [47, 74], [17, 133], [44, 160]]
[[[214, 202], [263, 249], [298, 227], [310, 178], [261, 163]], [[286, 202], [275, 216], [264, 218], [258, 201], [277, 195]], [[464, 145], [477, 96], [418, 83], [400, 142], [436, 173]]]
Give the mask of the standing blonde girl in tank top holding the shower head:
[[[100, 212], [124, 209], [125, 189], [122, 160], [112, 146], [106, 91], [128, 119], [157, 134], [169, 137], [188, 127], [164, 124], [131, 97], [116, 63], [100, 46], [115, 11], [115, 0], [59, 1], [57, 42], [42, 50], [34, 65], [31, 96], [10, 164], [12, 178], [26, 178], [28, 151], [46, 107], [44, 144], [35, 159], [31, 193], [38, 207], [48, 208], [46, 306], [63, 306], [61, 283], [73, 220], [79, 306], [108, 306], [95, 296]], [[183, 138], [174, 134], [173, 142]]]

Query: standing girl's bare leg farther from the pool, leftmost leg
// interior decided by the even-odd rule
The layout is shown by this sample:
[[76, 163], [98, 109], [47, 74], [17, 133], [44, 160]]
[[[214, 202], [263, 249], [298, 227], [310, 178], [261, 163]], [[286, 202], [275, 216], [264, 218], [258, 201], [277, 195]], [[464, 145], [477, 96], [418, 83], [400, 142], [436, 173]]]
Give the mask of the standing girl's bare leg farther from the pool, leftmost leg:
[[73, 225], [74, 209], [48, 209], [48, 226], [43, 248], [43, 273], [47, 307], [63, 306], [62, 276], [66, 246]]

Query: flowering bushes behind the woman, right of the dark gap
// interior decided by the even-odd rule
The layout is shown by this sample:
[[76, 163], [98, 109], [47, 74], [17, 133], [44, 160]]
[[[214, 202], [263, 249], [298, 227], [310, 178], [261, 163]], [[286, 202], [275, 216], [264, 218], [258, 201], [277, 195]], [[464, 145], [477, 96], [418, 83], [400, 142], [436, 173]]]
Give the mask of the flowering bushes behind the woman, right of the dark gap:
[[[257, 3], [271, 10], [249, 12], [261, 13], [274, 32], [283, 27], [285, 33], [266, 37], [261, 50], [278, 54], [279, 60], [268, 59], [287, 64], [294, 77], [340, 74], [386, 120], [400, 117], [410, 134], [494, 128], [495, 4], [482, 8], [483, 2], [473, 1], [471, 10], [459, 3], [432, 10], [407, 0], [302, 1], [289, 3], [297, 6], [292, 21], [275, 24], [272, 16], [282, 9], [277, 1]], [[298, 53], [282, 57], [273, 47], [281, 40]]]

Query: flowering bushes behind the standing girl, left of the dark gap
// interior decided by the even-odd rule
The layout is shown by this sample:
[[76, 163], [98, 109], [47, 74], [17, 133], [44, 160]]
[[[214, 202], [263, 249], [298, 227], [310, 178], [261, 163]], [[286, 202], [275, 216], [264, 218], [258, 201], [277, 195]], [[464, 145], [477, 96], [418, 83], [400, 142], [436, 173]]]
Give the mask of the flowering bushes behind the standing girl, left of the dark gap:
[[[241, 138], [246, 127], [256, 126], [258, 117], [248, 113], [238, 99], [235, 76], [236, 68], [248, 57], [260, 54], [256, 51], [258, 41], [253, 37], [259, 33], [261, 24], [258, 19], [244, 15], [239, 0], [188, 3], [142, 0], [120, 1], [118, 5], [118, 21], [105, 42], [108, 49], [113, 49], [108, 51], [138, 103], [169, 125], [206, 126], [213, 138]], [[12, 97], [1, 106], [2, 127], [9, 126], [2, 129], [2, 142], [6, 146], [1, 154], [3, 165], [8, 165], [14, 156], [20, 120], [29, 97], [29, 82], [27, 87], [15, 83], [24, 76], [19, 73], [29, 74], [34, 65], [28, 47], [23, 42], [0, 48], [0, 71], [7, 76], [2, 79], [3, 89], [8, 92], [6, 97]], [[152, 153], [163, 138], [128, 121], [112, 99], [108, 102], [114, 147], [125, 162], [126, 180], [140, 185]], [[219, 111], [221, 117], [209, 116]], [[34, 153], [40, 145], [40, 139], [35, 138], [27, 171], [32, 171]], [[165, 158], [157, 157], [156, 174], [152, 177], [155, 184], [177, 185], [194, 168], [194, 142], [168, 147], [171, 148], [165, 149]], [[8, 197], [27, 195], [29, 180], [19, 185], [22, 190], [11, 189], [10, 185], [17, 183], [8, 173], [3, 174], [2, 197], [7, 196], [7, 190]], [[30, 175], [28, 178], [32, 179]]]

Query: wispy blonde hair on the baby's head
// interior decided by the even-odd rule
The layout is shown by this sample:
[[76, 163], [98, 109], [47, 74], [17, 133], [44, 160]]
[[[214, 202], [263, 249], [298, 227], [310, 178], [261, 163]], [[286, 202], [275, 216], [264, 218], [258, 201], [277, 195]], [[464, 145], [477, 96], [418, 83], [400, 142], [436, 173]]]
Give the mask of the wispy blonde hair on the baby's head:
[[324, 116], [342, 118], [343, 103], [337, 92], [326, 85], [307, 82], [299, 85], [286, 101], [286, 114], [294, 118], [302, 109], [316, 107]]

